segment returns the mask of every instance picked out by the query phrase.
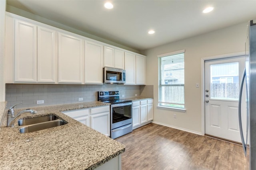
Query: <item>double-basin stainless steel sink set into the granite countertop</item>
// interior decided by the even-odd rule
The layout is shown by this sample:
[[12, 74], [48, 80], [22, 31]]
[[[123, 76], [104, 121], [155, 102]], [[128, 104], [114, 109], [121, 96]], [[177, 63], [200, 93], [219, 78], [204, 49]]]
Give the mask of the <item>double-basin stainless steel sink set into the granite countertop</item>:
[[20, 133], [40, 131], [51, 127], [65, 125], [67, 123], [67, 121], [60, 119], [54, 114], [18, 120]]

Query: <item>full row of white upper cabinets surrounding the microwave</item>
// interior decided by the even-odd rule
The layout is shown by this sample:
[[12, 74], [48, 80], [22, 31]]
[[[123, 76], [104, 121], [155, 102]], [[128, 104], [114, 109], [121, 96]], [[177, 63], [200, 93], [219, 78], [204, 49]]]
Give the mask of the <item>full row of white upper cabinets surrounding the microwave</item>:
[[6, 12], [6, 83], [102, 84], [103, 67], [145, 84], [146, 57]]

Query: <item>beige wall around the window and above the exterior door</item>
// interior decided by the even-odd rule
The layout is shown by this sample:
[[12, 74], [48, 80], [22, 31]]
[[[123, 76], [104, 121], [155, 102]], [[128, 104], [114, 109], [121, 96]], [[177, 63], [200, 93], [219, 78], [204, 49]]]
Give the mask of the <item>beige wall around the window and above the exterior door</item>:
[[[147, 84], [154, 85], [154, 122], [178, 129], [202, 132], [201, 59], [244, 51], [247, 23], [223, 28], [207, 34], [142, 51], [147, 56]], [[185, 49], [185, 108], [186, 112], [158, 109], [157, 55]], [[196, 88], [196, 83], [200, 88]], [[173, 115], [177, 118], [174, 119]]]

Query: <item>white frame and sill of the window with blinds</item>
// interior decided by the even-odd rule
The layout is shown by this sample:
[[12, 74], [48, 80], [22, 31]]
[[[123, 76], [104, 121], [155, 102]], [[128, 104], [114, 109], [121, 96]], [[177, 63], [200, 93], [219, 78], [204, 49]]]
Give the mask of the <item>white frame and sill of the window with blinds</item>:
[[[181, 112], [186, 112], [186, 107], [185, 107], [185, 89], [184, 89], [184, 108], [179, 108], [179, 107], [170, 107], [170, 106], [161, 106], [160, 104], [162, 102], [160, 102], [160, 91], [161, 91], [161, 88], [162, 86], [184, 86], [185, 82], [183, 85], [181, 84], [160, 84], [160, 63], [159, 63], [159, 58], [162, 58], [162, 57], [168, 57], [168, 56], [172, 56], [172, 55], [177, 55], [177, 54], [181, 54], [181, 53], [184, 53], [185, 55], [185, 50], [179, 50], [179, 51], [174, 51], [174, 52], [171, 52], [171, 53], [166, 53], [166, 54], [162, 54], [162, 55], [158, 55], [158, 106], [157, 108], [160, 108], [160, 109], [168, 109], [168, 110], [174, 110], [174, 111], [181, 111]], [[185, 62], [184, 62], [184, 69], [185, 69]], [[185, 74], [185, 73], [184, 73]], [[160, 86], [161, 85], [161, 86]], [[185, 86], [184, 86], [185, 87]], [[183, 104], [182, 104], [183, 105]]]

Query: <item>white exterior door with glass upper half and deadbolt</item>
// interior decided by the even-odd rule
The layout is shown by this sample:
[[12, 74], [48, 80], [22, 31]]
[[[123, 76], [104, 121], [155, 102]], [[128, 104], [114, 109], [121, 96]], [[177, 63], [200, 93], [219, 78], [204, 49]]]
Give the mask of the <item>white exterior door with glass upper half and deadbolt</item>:
[[[244, 67], [244, 56], [205, 61], [206, 135], [241, 142], [238, 99]], [[242, 96], [242, 121], [246, 121], [245, 97], [244, 93]]]

